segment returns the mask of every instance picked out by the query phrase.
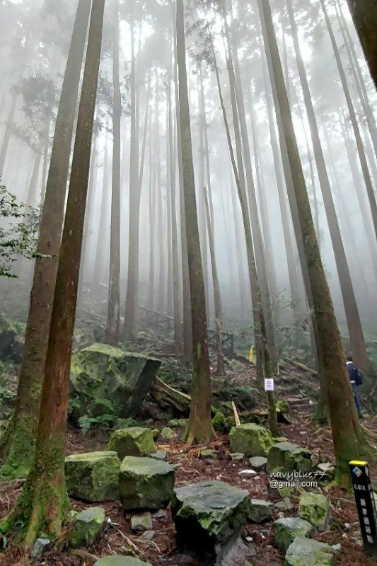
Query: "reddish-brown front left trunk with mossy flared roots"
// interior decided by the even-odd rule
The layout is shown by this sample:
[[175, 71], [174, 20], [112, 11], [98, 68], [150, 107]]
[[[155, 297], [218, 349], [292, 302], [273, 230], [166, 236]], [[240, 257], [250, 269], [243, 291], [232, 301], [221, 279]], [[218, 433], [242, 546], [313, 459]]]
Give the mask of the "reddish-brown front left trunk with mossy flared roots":
[[66, 415], [104, 6], [105, 0], [93, 0], [35, 459], [16, 507], [0, 524], [0, 531], [16, 535], [21, 528], [18, 535], [25, 548], [30, 548], [41, 534], [56, 540], [62, 534], [69, 506], [64, 476]]

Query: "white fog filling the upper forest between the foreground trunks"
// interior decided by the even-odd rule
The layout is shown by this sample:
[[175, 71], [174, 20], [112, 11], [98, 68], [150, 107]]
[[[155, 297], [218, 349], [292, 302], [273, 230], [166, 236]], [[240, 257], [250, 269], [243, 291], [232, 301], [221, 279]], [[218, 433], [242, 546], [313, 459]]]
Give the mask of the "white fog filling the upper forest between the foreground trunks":
[[[45, 199], [77, 4], [68, 0], [0, 2], [1, 185], [16, 195], [21, 209], [32, 214], [36, 224]], [[342, 335], [349, 335], [344, 308], [348, 300], [344, 293], [349, 289], [342, 294], [340, 286], [348, 268], [364, 334], [374, 338], [377, 246], [371, 201], [377, 183], [376, 89], [347, 1], [271, 0], [270, 5], [337, 320]], [[250, 332], [253, 324], [245, 228], [232, 153], [247, 195], [262, 302], [271, 305], [277, 342], [282, 345], [289, 332], [294, 342], [294, 328], [297, 340], [310, 343], [310, 307], [288, 198], [291, 173], [258, 2], [187, 1], [185, 25], [208, 326], [214, 329], [219, 316], [214, 262], [223, 330]], [[181, 325], [185, 318], [187, 252], [175, 33], [171, 1], [105, 3], [76, 316], [94, 320], [104, 331], [109, 302], [114, 305], [115, 301], [115, 311], [118, 304], [120, 308], [120, 342], [125, 340], [127, 324], [132, 326], [129, 335], [145, 328], [149, 311], [166, 315], [169, 331], [174, 319]], [[2, 218], [1, 226], [7, 229], [8, 222]], [[37, 239], [37, 233], [33, 237]], [[33, 265], [33, 260], [20, 255], [8, 272], [17, 279], [0, 278], [1, 311], [24, 323]], [[112, 295], [118, 284], [120, 301]]]

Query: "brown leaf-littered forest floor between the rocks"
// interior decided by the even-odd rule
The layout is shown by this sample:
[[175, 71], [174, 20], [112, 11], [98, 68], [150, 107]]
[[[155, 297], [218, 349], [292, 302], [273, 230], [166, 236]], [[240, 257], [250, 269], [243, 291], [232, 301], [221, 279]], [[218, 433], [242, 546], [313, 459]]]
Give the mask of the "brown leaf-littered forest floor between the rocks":
[[[253, 366], [248, 366], [244, 372], [232, 378], [238, 383], [250, 383], [255, 379]], [[313, 392], [312, 392], [313, 393]], [[328, 428], [316, 428], [312, 423], [314, 395], [312, 398], [302, 398], [300, 403], [294, 403], [291, 391], [286, 391], [284, 386], [279, 391], [279, 398], [287, 398], [291, 401], [290, 415], [291, 424], [280, 424], [281, 434], [289, 441], [308, 448], [313, 454], [313, 462], [334, 462], [331, 431]], [[156, 427], [164, 423], [155, 422]], [[364, 426], [371, 432], [372, 438], [377, 438], [377, 420], [372, 417], [363, 421]], [[179, 464], [175, 472], [176, 485], [195, 483], [200, 480], [222, 480], [232, 485], [242, 487], [257, 499], [270, 500], [276, 503], [278, 500], [270, 499], [268, 494], [269, 475], [265, 471], [258, 472], [252, 478], [242, 477], [239, 472], [250, 468], [247, 459], [244, 461], [232, 461], [229, 456], [228, 435], [218, 434], [215, 441], [206, 444], [206, 448], [216, 450], [214, 459], [201, 458], [201, 450], [204, 446], [187, 447], [179, 440], [182, 429], [178, 430], [176, 440], [168, 444], [156, 442], [158, 449], [168, 452], [167, 461]], [[67, 437], [67, 453], [105, 449], [108, 440], [108, 432], [90, 432], [83, 436], [81, 432], [71, 429]], [[374, 442], [373, 442], [374, 444]], [[373, 472], [373, 462], [370, 462]], [[374, 483], [377, 483], [377, 461], [374, 463]], [[0, 518], [8, 513], [16, 502], [18, 494], [22, 490], [22, 481], [14, 483], [0, 483]], [[376, 566], [375, 558], [368, 558], [364, 553], [359, 529], [359, 519], [356, 511], [354, 496], [336, 487], [320, 487], [330, 499], [332, 508], [332, 520], [330, 530], [318, 533], [318, 541], [331, 545], [341, 543], [342, 553], [335, 557], [335, 566], [364, 565]], [[298, 497], [291, 497], [293, 508], [279, 509], [274, 507], [272, 520], [263, 524], [246, 524], [243, 531], [243, 540], [250, 548], [250, 565], [253, 566], [282, 566], [284, 555], [277, 550], [271, 534], [272, 523], [282, 516], [297, 514]], [[94, 505], [94, 504], [93, 504]], [[91, 566], [96, 558], [112, 554], [132, 553], [137, 558], [150, 562], [152, 566], [199, 566], [195, 558], [179, 553], [175, 544], [175, 529], [170, 508], [160, 511], [153, 516], [153, 541], [144, 541], [140, 535], [132, 533], [130, 527], [130, 514], [124, 512], [119, 502], [101, 503], [105, 512], [111, 519], [100, 541], [88, 550], [79, 551], [81, 555], [69, 554], [66, 550], [51, 550], [42, 558], [29, 559], [17, 554], [9, 548], [6, 553], [0, 555], [1, 566]], [[81, 510], [88, 507], [87, 503], [72, 499], [72, 507]], [[243, 562], [245, 565], [245, 561]], [[237, 566], [236, 563], [234, 566]]]

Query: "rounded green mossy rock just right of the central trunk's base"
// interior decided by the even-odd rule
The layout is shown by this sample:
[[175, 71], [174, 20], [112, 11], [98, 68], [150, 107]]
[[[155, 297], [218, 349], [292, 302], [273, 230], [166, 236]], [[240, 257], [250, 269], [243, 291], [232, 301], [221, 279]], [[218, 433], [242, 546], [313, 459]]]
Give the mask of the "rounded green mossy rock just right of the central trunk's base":
[[248, 422], [233, 427], [229, 434], [231, 452], [241, 452], [245, 456], [267, 456], [274, 441], [272, 434], [259, 424]]

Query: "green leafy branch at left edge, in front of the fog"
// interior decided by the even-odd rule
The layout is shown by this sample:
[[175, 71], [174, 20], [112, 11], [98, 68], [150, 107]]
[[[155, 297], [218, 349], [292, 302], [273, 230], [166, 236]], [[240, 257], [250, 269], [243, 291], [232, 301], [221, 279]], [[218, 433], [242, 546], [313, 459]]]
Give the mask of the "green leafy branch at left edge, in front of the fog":
[[39, 213], [34, 209], [25, 213], [25, 204], [0, 185], [0, 219], [0, 277], [17, 277], [12, 263], [19, 256], [42, 257], [36, 251]]

